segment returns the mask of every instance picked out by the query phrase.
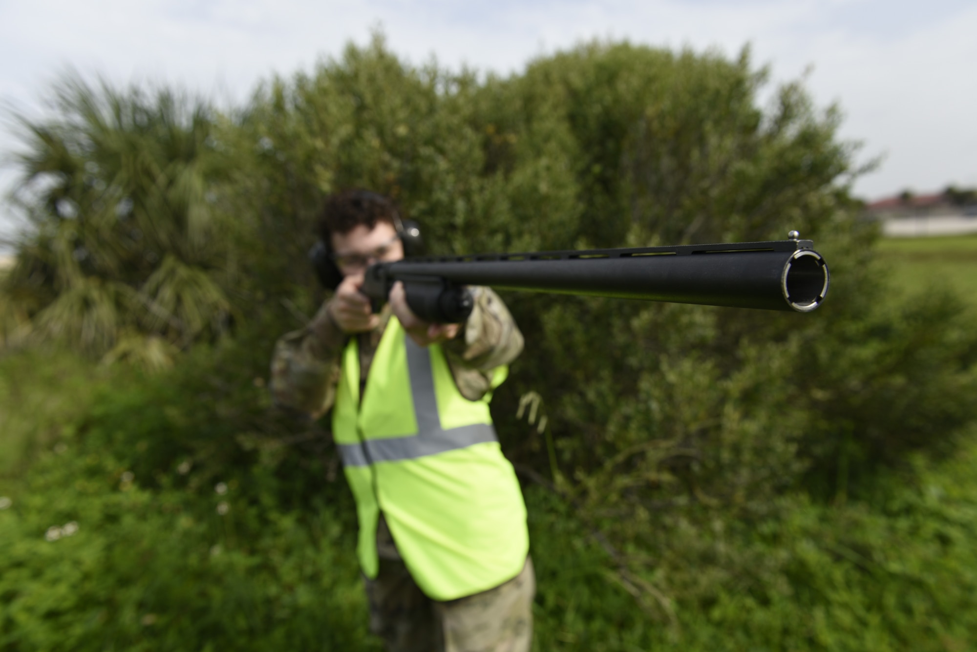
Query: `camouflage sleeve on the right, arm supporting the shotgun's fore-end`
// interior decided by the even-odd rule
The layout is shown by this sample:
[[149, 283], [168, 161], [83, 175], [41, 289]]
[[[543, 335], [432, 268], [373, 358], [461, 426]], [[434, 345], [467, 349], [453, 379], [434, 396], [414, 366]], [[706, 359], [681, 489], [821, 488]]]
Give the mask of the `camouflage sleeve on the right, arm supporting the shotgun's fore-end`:
[[482, 398], [491, 388], [492, 371], [509, 364], [523, 350], [523, 334], [490, 288], [472, 287], [475, 306], [463, 334], [444, 345], [448, 365], [461, 395]]

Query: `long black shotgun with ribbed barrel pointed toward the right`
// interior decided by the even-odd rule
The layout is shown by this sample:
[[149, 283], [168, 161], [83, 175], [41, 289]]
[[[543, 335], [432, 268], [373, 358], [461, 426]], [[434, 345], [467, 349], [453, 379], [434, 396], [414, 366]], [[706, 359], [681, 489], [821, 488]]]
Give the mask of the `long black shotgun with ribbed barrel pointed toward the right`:
[[409, 258], [371, 265], [361, 292], [379, 309], [403, 281], [407, 305], [434, 323], [468, 317], [468, 285], [810, 312], [828, 293], [828, 265], [811, 240], [790, 235], [770, 242]]

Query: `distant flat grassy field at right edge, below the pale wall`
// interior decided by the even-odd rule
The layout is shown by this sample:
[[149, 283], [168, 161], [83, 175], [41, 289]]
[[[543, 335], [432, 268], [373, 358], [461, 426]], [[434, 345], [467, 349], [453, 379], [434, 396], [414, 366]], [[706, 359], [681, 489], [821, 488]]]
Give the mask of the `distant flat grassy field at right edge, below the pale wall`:
[[907, 292], [945, 285], [977, 305], [977, 235], [886, 238], [879, 254]]

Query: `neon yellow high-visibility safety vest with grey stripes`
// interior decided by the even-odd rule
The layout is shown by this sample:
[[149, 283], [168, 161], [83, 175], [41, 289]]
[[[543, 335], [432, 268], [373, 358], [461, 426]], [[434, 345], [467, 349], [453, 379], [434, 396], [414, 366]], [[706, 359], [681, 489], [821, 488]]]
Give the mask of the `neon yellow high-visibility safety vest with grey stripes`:
[[[492, 387], [507, 374], [496, 370]], [[378, 570], [380, 510], [411, 577], [450, 600], [510, 580], [529, 552], [526, 506], [488, 413], [461, 395], [441, 346], [422, 348], [391, 317], [360, 400], [356, 339], [343, 353], [332, 429], [357, 502], [357, 552]]]

